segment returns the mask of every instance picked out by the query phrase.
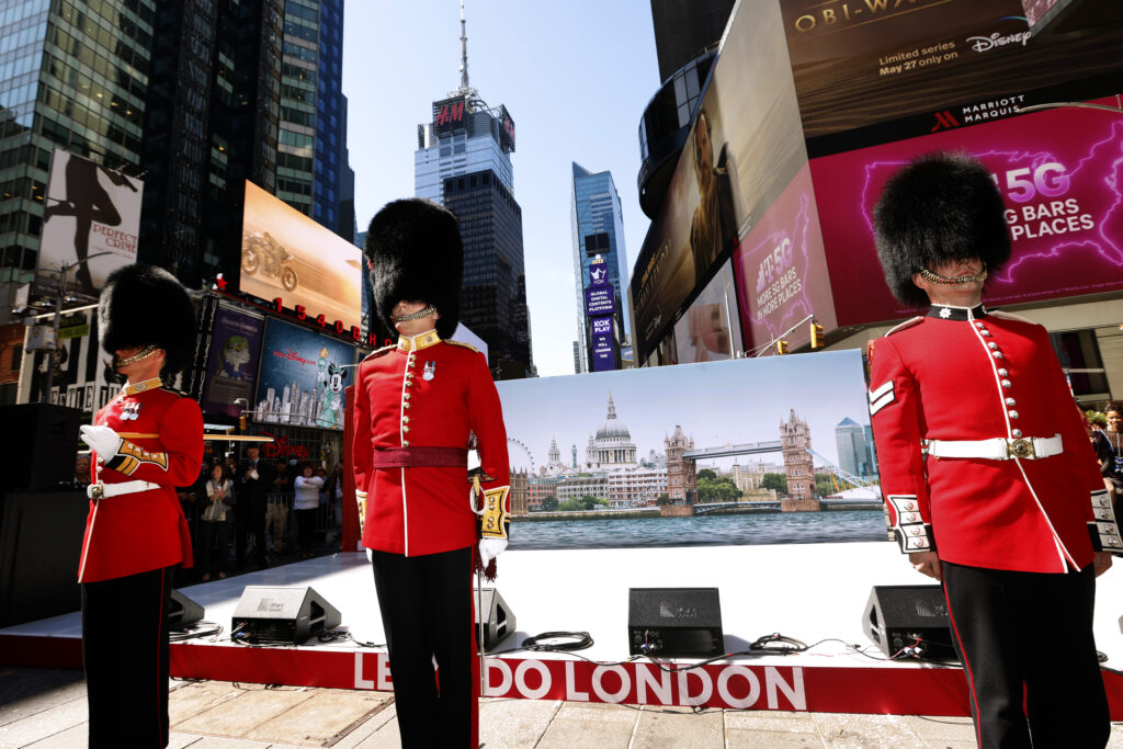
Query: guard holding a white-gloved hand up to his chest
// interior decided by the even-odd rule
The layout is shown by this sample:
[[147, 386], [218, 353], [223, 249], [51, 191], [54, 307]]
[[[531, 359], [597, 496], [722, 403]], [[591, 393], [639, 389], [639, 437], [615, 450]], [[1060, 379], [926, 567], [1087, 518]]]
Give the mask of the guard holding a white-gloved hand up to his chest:
[[195, 314], [170, 273], [129, 265], [106, 281], [98, 326], [128, 381], [81, 428], [97, 458], [79, 567], [90, 746], [165, 747], [168, 592], [191, 566], [175, 487], [199, 476], [203, 420], [164, 382], [190, 362]]

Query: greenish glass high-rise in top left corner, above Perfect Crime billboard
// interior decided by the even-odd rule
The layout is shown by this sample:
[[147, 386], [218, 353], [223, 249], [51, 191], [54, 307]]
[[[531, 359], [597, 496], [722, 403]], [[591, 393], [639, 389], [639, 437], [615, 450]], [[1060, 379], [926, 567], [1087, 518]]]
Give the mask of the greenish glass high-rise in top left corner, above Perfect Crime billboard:
[[55, 147], [138, 174], [156, 0], [3, 3], [0, 298], [31, 280]]

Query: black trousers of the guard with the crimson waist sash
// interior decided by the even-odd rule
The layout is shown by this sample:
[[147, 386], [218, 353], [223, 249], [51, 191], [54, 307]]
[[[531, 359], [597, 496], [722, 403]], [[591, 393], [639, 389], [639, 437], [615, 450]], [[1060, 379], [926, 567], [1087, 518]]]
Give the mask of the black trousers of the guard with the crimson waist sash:
[[477, 747], [472, 547], [372, 554], [402, 747]]

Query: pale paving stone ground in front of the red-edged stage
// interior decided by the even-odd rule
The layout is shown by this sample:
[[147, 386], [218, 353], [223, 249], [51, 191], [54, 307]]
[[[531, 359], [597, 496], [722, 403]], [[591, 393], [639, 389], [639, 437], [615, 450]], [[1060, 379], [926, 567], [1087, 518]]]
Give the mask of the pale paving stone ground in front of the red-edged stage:
[[[174, 681], [172, 749], [399, 747], [393, 695]], [[486, 749], [974, 747], [969, 719], [484, 700]], [[0, 667], [0, 749], [85, 747], [81, 672]], [[1108, 747], [1123, 749], [1123, 723]]]

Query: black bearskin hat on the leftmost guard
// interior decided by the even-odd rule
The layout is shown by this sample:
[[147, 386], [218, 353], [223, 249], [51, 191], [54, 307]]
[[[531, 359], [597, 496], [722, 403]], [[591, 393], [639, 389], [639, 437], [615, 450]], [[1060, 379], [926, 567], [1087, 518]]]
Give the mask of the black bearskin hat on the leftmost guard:
[[98, 300], [101, 347], [163, 348], [164, 372], [176, 373], [191, 363], [195, 349], [195, 310], [183, 285], [154, 265], [126, 265], [109, 274]]

